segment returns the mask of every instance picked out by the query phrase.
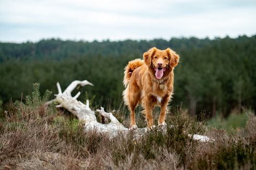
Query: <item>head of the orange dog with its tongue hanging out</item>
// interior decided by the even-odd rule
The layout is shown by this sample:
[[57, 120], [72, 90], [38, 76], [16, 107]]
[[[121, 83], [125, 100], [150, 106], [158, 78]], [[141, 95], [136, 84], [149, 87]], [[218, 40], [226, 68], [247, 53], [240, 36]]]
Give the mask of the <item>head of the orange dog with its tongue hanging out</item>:
[[161, 79], [166, 70], [169, 72], [179, 62], [179, 55], [170, 48], [166, 50], [158, 50], [156, 47], [150, 48], [143, 54], [143, 58], [145, 64], [152, 71], [155, 71], [157, 79]]

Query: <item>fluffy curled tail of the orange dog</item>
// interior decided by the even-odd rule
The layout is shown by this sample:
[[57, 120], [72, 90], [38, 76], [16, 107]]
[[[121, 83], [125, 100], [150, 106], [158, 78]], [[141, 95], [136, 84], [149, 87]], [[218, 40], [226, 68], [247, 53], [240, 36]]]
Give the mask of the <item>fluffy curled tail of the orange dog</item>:
[[142, 59], [134, 59], [131, 60], [127, 66], [124, 67], [124, 78], [123, 78], [123, 84], [124, 87], [127, 87], [127, 85], [129, 84], [129, 80], [132, 76], [132, 72], [138, 68], [141, 67], [142, 65], [144, 65], [144, 60]]

